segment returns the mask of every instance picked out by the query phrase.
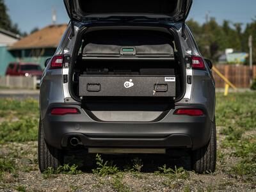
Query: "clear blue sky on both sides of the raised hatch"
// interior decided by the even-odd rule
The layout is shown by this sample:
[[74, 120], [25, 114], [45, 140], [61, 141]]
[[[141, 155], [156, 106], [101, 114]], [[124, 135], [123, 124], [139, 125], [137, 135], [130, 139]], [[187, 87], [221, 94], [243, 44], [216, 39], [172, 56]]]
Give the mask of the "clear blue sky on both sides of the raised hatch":
[[[243, 28], [246, 23], [256, 19], [255, 0], [193, 0], [193, 2], [188, 19], [194, 19], [200, 24], [205, 22], [207, 13], [220, 24], [225, 19], [233, 23], [241, 22]], [[5, 0], [5, 3], [12, 21], [18, 24], [22, 32], [29, 33], [34, 28], [44, 28], [51, 24], [52, 8], [57, 12], [58, 24], [67, 23], [69, 20], [63, 0]]]

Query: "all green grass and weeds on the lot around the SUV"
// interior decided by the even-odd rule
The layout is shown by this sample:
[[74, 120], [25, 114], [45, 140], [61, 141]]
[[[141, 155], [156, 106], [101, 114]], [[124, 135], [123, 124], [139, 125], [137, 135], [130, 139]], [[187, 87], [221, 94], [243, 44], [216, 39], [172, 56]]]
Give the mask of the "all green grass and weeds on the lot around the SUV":
[[[0, 99], [0, 147], [19, 145], [19, 143], [36, 141], [38, 131], [39, 116], [38, 101], [33, 99], [13, 100]], [[230, 176], [230, 178], [243, 180], [244, 183], [256, 184], [256, 93], [230, 93], [228, 97], [223, 94], [217, 94], [216, 99], [216, 124], [218, 129], [218, 163], [217, 168], [221, 168], [221, 172]], [[10, 143], [15, 142], [16, 144]], [[26, 143], [23, 143], [24, 145]], [[32, 146], [35, 148], [35, 146]], [[15, 148], [15, 147], [14, 147]], [[27, 149], [13, 151], [7, 155], [0, 155], [0, 180], [8, 184], [17, 180], [17, 173], [30, 172], [37, 169], [36, 159], [31, 151]], [[36, 151], [36, 150], [35, 150]], [[35, 153], [35, 152], [34, 152]], [[35, 157], [36, 158], [36, 157]], [[31, 159], [33, 163], [19, 164], [19, 159]], [[34, 162], [35, 161], [35, 162]], [[17, 163], [18, 162], [18, 163]], [[115, 161], [114, 161], [115, 162]], [[128, 186], [127, 174], [133, 175], [135, 179], [143, 180], [147, 178], [147, 174], [143, 173], [147, 167], [147, 163], [141, 161], [140, 158], [134, 158], [131, 163], [126, 163], [127, 169], [119, 168], [113, 161], [104, 161], [98, 154], [96, 156], [96, 168], [93, 173], [100, 177], [104, 182], [104, 178], [108, 180], [109, 186], [115, 191], [131, 191], [132, 186]], [[118, 164], [118, 163], [117, 163]], [[219, 170], [218, 170], [219, 171]], [[220, 173], [217, 171], [217, 174]], [[46, 170], [43, 174], [45, 179], [58, 177], [59, 174], [76, 175], [81, 173], [76, 165], [65, 164], [58, 168], [57, 171], [52, 169]], [[193, 186], [188, 182], [193, 173], [172, 166], [160, 165], [158, 172], [155, 173], [164, 178], [163, 185], [168, 188], [180, 188], [183, 191], [193, 190]], [[108, 177], [105, 177], [108, 176]], [[211, 175], [209, 175], [211, 177]], [[103, 182], [102, 181], [102, 182]], [[220, 184], [220, 188], [225, 190], [230, 183]], [[101, 184], [104, 186], [104, 184]], [[77, 186], [70, 186], [72, 191], [79, 189]], [[218, 189], [218, 186], [216, 187]], [[206, 191], [215, 189], [208, 186]], [[22, 185], [16, 185], [16, 191], [26, 191]], [[198, 191], [200, 191], [198, 189]]]

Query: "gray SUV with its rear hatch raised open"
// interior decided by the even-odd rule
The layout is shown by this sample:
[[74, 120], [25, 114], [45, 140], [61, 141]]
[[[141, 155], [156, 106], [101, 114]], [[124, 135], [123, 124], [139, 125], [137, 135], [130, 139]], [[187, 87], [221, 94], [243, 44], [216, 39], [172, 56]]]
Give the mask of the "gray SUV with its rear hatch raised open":
[[40, 84], [40, 171], [77, 150], [186, 150], [195, 172], [214, 172], [215, 85], [185, 24], [192, 0], [64, 3], [70, 23]]

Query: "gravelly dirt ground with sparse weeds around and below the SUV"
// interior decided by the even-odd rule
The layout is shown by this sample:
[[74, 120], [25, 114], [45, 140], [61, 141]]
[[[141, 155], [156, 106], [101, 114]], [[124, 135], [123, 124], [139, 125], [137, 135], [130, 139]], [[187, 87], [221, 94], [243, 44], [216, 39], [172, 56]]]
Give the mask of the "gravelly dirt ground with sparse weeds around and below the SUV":
[[[227, 148], [219, 148], [219, 152], [225, 155], [218, 159], [216, 172], [207, 175], [198, 175], [189, 171], [189, 157], [169, 159], [169, 157], [150, 156], [151, 159], [148, 159], [140, 156], [143, 162], [141, 173], [125, 171], [120, 173], [122, 177], [116, 175], [100, 177], [92, 173], [93, 167], [89, 167], [77, 175], [58, 174], [45, 179], [44, 174], [38, 170], [36, 145], [36, 142], [28, 142], [8, 143], [1, 146], [0, 156], [13, 159], [17, 165], [17, 172], [2, 175], [0, 191], [23, 189], [25, 191], [255, 191], [256, 188], [252, 182], [244, 182], [236, 175], [228, 173], [230, 166], [236, 163], [236, 157], [231, 158], [228, 154], [232, 151], [228, 151]], [[134, 159], [134, 156], [129, 155], [102, 157], [118, 164], [118, 167], [129, 165]], [[91, 160], [89, 158], [84, 161]], [[93, 165], [94, 162], [88, 164]], [[157, 166], [161, 164], [169, 166], [185, 164], [188, 178], [179, 179], [157, 173]]]

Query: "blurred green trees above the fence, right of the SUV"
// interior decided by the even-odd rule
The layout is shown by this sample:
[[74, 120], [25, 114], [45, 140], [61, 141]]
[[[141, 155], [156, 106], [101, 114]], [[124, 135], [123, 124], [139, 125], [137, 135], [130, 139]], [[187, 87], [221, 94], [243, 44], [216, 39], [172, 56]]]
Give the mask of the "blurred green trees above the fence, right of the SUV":
[[[256, 20], [253, 20], [242, 31], [241, 23], [234, 23], [232, 26], [228, 20], [224, 20], [220, 25], [214, 18], [209, 22], [200, 25], [195, 20], [187, 21], [187, 24], [195, 36], [198, 47], [205, 58], [217, 61], [221, 52], [227, 48], [235, 51], [248, 51], [248, 38], [256, 31]], [[253, 35], [253, 61], [256, 63], [256, 35]]]

